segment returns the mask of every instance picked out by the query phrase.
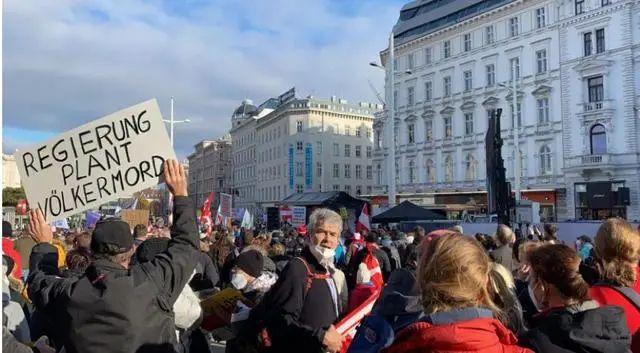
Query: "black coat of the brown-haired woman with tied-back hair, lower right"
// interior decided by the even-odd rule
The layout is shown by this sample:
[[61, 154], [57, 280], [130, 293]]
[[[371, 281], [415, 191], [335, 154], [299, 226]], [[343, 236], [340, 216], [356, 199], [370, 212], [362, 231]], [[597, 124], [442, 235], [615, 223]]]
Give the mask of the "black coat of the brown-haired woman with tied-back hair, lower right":
[[544, 353], [627, 353], [631, 335], [622, 308], [603, 306], [579, 312], [566, 308], [542, 313], [520, 344]]

